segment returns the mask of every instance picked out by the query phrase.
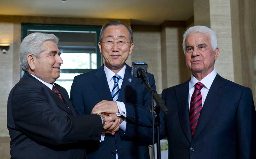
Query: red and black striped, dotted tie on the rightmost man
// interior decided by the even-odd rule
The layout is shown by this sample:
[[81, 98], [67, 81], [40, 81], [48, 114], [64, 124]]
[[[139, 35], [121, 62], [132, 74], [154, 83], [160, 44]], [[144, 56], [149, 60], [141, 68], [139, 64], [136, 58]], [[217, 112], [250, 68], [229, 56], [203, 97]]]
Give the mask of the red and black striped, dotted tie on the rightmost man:
[[190, 109], [189, 109], [189, 123], [191, 136], [193, 137], [196, 130], [196, 125], [202, 110], [202, 95], [201, 89], [204, 87], [203, 83], [198, 82], [195, 84], [195, 90], [191, 97]]

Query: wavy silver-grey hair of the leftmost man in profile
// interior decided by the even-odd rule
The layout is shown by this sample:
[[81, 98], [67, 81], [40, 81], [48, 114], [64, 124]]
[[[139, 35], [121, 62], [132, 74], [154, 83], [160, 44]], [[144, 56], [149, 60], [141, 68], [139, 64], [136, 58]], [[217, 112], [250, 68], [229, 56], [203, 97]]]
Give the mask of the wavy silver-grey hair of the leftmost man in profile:
[[23, 39], [19, 49], [20, 66], [23, 71], [27, 72], [29, 69], [27, 61], [28, 54], [39, 58], [39, 54], [46, 49], [43, 45], [46, 41], [52, 41], [58, 45], [59, 38], [54, 34], [32, 33]]

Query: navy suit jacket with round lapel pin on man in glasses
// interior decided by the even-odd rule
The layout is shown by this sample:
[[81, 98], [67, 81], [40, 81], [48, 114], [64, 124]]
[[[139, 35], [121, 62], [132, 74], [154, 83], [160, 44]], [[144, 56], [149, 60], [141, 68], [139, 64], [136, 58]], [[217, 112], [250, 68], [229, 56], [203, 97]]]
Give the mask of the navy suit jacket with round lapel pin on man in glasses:
[[[148, 73], [149, 83], [156, 90], [154, 76]], [[132, 81], [129, 82], [128, 79]], [[71, 87], [71, 102], [79, 114], [91, 114], [100, 101], [113, 101], [103, 66], [97, 70], [78, 75]], [[140, 126], [151, 127], [152, 115], [146, 107], [151, 104], [150, 93], [139, 78], [131, 76], [131, 67], [126, 65], [122, 87], [117, 101], [124, 102], [127, 111], [126, 132], [119, 129], [115, 135], [106, 134], [104, 141], [92, 142], [86, 147], [88, 159], [149, 159], [148, 132]], [[132, 136], [126, 133], [132, 132]], [[134, 137], [136, 136], [136, 137]], [[145, 138], [144, 138], [145, 136]]]

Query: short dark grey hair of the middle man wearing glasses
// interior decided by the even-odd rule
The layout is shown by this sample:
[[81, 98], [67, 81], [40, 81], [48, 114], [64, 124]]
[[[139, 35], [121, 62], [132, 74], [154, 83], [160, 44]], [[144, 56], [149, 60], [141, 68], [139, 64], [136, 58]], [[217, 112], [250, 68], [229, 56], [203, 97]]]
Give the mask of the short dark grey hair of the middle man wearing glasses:
[[120, 25], [123, 25], [127, 28], [127, 30], [129, 31], [129, 34], [130, 34], [130, 42], [133, 42], [132, 29], [130, 28], [130, 26], [124, 24], [124, 22], [122, 22], [122, 21], [110, 21], [110, 22], [106, 23], [104, 26], [102, 26], [101, 31], [100, 31], [99, 42], [102, 42], [104, 31], [108, 26], [120, 26]]

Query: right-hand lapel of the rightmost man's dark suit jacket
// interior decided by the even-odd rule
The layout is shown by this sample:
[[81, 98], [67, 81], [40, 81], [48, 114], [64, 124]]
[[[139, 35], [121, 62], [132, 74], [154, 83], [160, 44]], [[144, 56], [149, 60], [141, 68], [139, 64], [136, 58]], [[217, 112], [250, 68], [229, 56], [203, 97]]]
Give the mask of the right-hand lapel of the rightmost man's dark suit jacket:
[[223, 78], [217, 74], [204, 101], [204, 106], [198, 119], [193, 140], [195, 140], [199, 133], [204, 129], [205, 125], [212, 117], [212, 114], [218, 108], [227, 88], [228, 86], [225, 86]]

